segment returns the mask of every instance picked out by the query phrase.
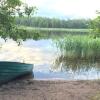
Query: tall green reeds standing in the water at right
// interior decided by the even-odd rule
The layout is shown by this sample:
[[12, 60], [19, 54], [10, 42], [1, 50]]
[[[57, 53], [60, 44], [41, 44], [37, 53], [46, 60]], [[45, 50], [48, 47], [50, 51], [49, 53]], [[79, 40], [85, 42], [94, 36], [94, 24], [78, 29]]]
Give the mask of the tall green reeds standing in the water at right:
[[100, 58], [100, 38], [81, 35], [67, 35], [56, 40], [61, 55], [68, 59]]

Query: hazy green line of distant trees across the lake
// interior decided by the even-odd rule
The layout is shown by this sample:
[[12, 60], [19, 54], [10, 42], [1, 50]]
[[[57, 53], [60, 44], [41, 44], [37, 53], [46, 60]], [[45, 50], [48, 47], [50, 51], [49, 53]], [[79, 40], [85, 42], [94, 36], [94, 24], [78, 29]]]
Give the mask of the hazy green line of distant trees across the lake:
[[15, 22], [17, 25], [40, 27], [40, 28], [75, 28], [87, 29], [89, 28], [90, 19], [68, 19], [61, 20], [57, 18], [47, 17], [16, 17]]

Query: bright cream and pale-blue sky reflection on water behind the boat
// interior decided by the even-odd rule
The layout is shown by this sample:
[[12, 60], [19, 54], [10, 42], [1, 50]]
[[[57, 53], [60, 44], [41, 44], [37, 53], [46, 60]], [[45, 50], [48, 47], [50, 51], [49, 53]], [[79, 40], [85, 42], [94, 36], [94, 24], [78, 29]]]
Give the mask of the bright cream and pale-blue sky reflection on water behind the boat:
[[19, 61], [33, 64], [52, 63], [54, 48], [51, 46], [52, 40], [27, 40], [18, 46], [11, 39], [2, 41], [0, 50], [0, 60]]

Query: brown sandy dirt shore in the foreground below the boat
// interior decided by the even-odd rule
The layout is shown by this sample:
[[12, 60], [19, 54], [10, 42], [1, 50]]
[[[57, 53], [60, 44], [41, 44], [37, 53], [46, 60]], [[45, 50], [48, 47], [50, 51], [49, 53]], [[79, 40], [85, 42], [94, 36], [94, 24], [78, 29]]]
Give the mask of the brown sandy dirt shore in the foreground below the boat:
[[0, 100], [94, 100], [99, 92], [100, 80], [24, 79], [1, 85]]

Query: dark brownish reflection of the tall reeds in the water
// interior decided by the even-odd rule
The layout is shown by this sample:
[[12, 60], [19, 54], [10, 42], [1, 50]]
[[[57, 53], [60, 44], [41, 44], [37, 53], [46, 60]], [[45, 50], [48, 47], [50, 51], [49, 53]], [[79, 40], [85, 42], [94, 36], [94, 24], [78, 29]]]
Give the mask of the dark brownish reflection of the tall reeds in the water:
[[[61, 68], [62, 67], [62, 68]], [[64, 69], [65, 71], [71, 70], [73, 72], [84, 72], [90, 69], [100, 70], [100, 60], [69, 60], [64, 56], [59, 56], [55, 62], [53, 69]]]

